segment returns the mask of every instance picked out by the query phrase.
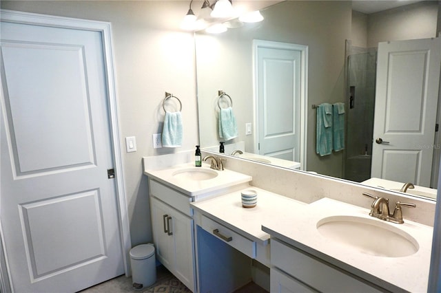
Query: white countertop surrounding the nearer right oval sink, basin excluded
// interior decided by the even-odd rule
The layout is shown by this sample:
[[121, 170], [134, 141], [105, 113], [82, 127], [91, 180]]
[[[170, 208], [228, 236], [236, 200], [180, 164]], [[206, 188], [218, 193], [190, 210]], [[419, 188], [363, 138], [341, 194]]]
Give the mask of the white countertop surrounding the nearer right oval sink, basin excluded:
[[[387, 290], [427, 292], [433, 228], [406, 221], [405, 218], [404, 224], [392, 224], [375, 219], [408, 232], [419, 244], [418, 252], [408, 257], [378, 257], [358, 252], [355, 248], [346, 249], [342, 244], [320, 235], [317, 230], [318, 221], [334, 215], [375, 219], [369, 216], [367, 208], [323, 198], [301, 210], [296, 210], [296, 213], [280, 213], [277, 217], [265, 217], [261, 223], [263, 231], [272, 237]], [[387, 241], [387, 239], [378, 239], [378, 241]]]

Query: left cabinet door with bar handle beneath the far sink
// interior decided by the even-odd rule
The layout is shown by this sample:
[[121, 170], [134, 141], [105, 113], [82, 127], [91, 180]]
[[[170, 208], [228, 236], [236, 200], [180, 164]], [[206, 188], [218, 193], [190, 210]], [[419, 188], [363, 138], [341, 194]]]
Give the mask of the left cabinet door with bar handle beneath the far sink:
[[[152, 229], [154, 246], [158, 261], [169, 270], [173, 270], [174, 241], [172, 235], [167, 232], [167, 217], [172, 217], [171, 208], [159, 202], [158, 199], [150, 197], [152, 213]], [[170, 223], [170, 219], [168, 219]]]

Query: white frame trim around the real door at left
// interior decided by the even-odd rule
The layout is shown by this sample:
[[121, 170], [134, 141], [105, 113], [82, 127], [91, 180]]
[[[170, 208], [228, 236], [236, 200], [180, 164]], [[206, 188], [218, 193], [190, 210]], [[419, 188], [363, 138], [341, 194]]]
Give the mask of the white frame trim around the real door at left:
[[[132, 248], [130, 240], [130, 222], [127, 213], [127, 202], [125, 199], [125, 186], [123, 177], [123, 163], [121, 151], [121, 133], [119, 130], [118, 103], [116, 99], [116, 80], [114, 71], [114, 53], [112, 45], [112, 25], [105, 21], [91, 21], [86, 19], [74, 19], [68, 17], [56, 17], [46, 14], [36, 14], [29, 12], [19, 12], [14, 10], [0, 10], [0, 19], [2, 22], [23, 23], [29, 25], [45, 25], [54, 28], [70, 28], [74, 30], [90, 30], [101, 33], [101, 41], [103, 42], [103, 57], [105, 70], [105, 85], [107, 90], [107, 105], [109, 114], [109, 131], [112, 143], [112, 159], [114, 160], [115, 170], [115, 193], [117, 200], [117, 208], [119, 215], [119, 232], [121, 236], [121, 248], [123, 251], [123, 262], [125, 276], [130, 276], [130, 258], [128, 253]], [[2, 89], [0, 84], [0, 89]], [[1, 90], [3, 95], [3, 89]], [[0, 105], [0, 111], [1, 109]], [[0, 194], [1, 198], [1, 194]], [[1, 202], [0, 202], [1, 204]], [[11, 288], [10, 274], [8, 268], [8, 259], [4, 258], [8, 254], [3, 241], [3, 230], [1, 229], [0, 215], [0, 288], [1, 290]], [[6, 260], [6, 261], [3, 261]], [[13, 290], [13, 288], [12, 288]], [[8, 291], [6, 291], [8, 292]]]

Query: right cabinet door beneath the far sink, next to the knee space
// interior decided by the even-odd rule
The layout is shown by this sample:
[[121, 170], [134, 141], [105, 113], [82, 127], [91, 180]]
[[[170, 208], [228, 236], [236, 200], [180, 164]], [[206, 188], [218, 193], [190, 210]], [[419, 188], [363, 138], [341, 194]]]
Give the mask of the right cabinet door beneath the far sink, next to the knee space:
[[190, 290], [194, 291], [193, 219], [172, 210], [174, 237], [174, 273]]

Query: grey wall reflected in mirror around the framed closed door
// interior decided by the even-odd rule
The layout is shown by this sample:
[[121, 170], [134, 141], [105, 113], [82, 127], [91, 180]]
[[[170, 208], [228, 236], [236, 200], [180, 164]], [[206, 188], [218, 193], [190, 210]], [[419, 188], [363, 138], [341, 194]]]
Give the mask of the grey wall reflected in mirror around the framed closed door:
[[[247, 151], [254, 149], [245, 136], [253, 122], [252, 40], [308, 45], [307, 170], [341, 177], [342, 152], [320, 158], [316, 154], [316, 109], [312, 104], [345, 101], [345, 40], [351, 32], [351, 1], [285, 1], [262, 13], [261, 24], [229, 30], [219, 36], [196, 36], [201, 144], [214, 146], [214, 96], [223, 89], [234, 98], [240, 138]], [[205, 45], [201, 45], [204, 43]], [[201, 50], [199, 50], [201, 49]]]

